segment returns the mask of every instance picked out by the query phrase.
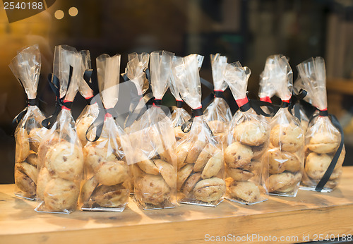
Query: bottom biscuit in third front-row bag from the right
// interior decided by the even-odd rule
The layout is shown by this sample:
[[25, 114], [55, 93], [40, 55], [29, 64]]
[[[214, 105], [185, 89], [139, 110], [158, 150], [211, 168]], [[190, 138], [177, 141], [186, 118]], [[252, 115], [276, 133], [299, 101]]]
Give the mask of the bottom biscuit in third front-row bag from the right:
[[260, 200], [260, 190], [251, 181], [232, 181], [227, 185], [227, 190], [232, 198], [244, 202], [256, 202]]

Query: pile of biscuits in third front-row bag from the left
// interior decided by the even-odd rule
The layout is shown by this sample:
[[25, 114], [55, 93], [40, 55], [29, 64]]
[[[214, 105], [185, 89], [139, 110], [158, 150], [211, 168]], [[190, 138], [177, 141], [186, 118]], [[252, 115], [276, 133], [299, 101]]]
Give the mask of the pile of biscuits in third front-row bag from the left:
[[[115, 143], [116, 142], [116, 143]], [[85, 181], [82, 208], [116, 208], [128, 203], [131, 173], [121, 143], [100, 138], [83, 148]]]

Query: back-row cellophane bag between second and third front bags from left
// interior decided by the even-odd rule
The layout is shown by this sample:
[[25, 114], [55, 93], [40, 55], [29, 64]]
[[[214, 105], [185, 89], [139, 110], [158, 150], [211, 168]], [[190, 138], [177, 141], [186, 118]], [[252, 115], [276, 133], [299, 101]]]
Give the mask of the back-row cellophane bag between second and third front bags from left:
[[85, 71], [91, 68], [90, 65], [90, 51], [85, 50], [85, 51], [80, 51], [80, 54], [82, 55], [82, 69], [81, 69], [81, 80], [80, 84], [78, 86], [78, 91], [82, 95], [82, 97], [85, 98], [85, 101], [87, 102], [87, 105], [81, 112], [80, 116], [76, 119], [76, 130], [78, 134], [78, 138], [80, 139], [80, 142], [82, 146], [84, 147], [87, 143], [86, 139], [86, 132], [88, 130], [88, 127], [95, 121], [95, 118], [97, 118], [98, 113], [99, 113], [99, 108], [97, 102], [94, 102], [92, 100], [94, 94], [93, 90], [90, 88], [88, 83], [83, 79], [83, 74]]

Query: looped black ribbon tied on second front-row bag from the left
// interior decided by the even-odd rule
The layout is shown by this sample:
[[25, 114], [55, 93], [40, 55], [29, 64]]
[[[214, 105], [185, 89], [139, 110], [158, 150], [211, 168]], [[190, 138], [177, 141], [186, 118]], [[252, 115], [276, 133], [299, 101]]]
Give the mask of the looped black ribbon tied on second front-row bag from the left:
[[[70, 87], [72, 73], [73, 73], [73, 67], [70, 66], [66, 93], [68, 91], [68, 87]], [[44, 118], [44, 120], [42, 121], [42, 126], [44, 126], [47, 129], [50, 129], [54, 125], [54, 122], [56, 121], [56, 118], [59, 115], [62, 107], [66, 106], [66, 108], [71, 109], [72, 102], [64, 102], [66, 94], [62, 98], [60, 98], [60, 81], [59, 81], [59, 78], [56, 77], [56, 75], [54, 75], [53, 73], [50, 73], [48, 75], [48, 82], [49, 82], [49, 86], [52, 88], [52, 91], [56, 96], [55, 110], [51, 116], [49, 116], [48, 118]]]

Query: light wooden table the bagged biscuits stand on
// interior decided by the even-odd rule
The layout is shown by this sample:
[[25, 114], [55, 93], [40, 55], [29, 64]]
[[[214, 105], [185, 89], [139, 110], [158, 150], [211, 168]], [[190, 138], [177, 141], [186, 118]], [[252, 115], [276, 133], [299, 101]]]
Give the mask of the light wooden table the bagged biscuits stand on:
[[251, 206], [225, 200], [215, 208], [181, 205], [150, 211], [131, 201], [122, 213], [72, 214], [39, 214], [33, 210], [35, 202], [14, 197], [13, 185], [0, 185], [0, 243], [201, 243], [217, 236], [296, 243], [318, 240], [320, 234], [337, 238], [353, 234], [352, 185], [349, 166], [332, 193], [299, 190], [297, 197], [271, 196]]

